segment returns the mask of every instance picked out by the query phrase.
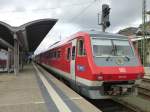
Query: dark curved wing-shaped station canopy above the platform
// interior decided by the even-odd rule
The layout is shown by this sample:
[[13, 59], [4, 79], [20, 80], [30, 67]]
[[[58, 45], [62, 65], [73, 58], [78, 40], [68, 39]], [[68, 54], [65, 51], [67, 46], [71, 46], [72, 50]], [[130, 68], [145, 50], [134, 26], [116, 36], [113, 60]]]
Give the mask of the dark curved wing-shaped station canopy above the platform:
[[34, 52], [56, 22], [56, 19], [40, 19], [12, 27], [0, 21], [0, 48], [7, 49], [8, 46], [14, 46], [14, 34], [16, 34], [21, 49]]

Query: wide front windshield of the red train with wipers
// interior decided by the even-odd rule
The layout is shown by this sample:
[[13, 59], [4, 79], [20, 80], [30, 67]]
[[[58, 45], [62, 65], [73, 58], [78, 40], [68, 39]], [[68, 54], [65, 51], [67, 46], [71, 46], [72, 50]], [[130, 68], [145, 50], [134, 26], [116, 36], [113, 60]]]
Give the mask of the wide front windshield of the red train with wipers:
[[94, 57], [134, 57], [134, 50], [128, 39], [92, 38]]

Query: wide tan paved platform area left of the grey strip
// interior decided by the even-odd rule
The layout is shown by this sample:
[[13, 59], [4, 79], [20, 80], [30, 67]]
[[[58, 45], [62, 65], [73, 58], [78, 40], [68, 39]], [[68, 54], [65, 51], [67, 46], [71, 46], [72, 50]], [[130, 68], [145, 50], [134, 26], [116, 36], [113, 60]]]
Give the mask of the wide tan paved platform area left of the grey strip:
[[0, 73], [0, 112], [47, 112], [31, 65], [17, 76]]

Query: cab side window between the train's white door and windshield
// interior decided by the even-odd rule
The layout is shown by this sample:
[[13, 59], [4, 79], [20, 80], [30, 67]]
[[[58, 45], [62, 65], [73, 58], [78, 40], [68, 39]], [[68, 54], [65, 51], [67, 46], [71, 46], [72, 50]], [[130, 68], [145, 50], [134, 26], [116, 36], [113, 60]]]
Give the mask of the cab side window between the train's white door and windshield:
[[78, 55], [84, 56], [85, 54], [84, 40], [78, 40]]

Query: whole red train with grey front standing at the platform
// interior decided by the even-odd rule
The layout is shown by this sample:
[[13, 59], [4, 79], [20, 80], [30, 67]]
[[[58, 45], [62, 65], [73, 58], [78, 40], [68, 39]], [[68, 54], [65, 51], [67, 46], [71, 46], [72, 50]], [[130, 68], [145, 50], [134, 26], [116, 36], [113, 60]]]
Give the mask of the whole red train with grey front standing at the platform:
[[136, 95], [144, 69], [128, 37], [99, 31], [78, 32], [36, 56], [91, 99]]

